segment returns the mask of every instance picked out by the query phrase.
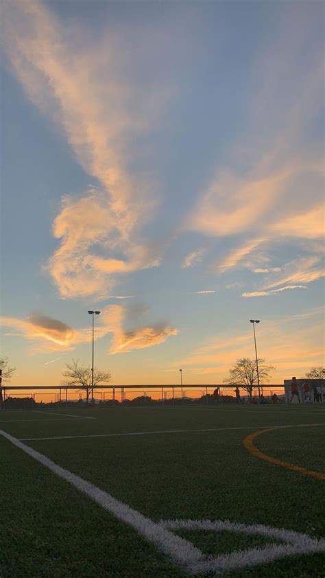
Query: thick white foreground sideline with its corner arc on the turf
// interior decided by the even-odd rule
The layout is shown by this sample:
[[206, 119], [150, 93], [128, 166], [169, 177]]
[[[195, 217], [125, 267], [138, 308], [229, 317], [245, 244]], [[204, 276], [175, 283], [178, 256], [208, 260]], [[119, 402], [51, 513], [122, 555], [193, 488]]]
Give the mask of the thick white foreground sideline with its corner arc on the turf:
[[[165, 520], [153, 522], [140, 512], [130, 508], [120, 500], [117, 500], [99, 487], [87, 482], [57, 465], [49, 458], [36, 452], [29, 446], [25, 446], [19, 439], [1, 431], [0, 434], [8, 439], [17, 448], [29, 454], [36, 461], [45, 465], [51, 472], [71, 483], [74, 487], [89, 496], [92, 500], [109, 511], [113, 516], [129, 524], [141, 536], [149, 542], [153, 542], [161, 551], [169, 555], [174, 562], [180, 564], [184, 570], [191, 574], [224, 574], [234, 568], [244, 568], [256, 564], [265, 564], [286, 556], [295, 554], [306, 554], [325, 551], [325, 540], [315, 540], [307, 535], [290, 532], [284, 529], [269, 528], [261, 525], [246, 526], [228, 520]], [[261, 533], [269, 537], [277, 537], [284, 540], [285, 544], [270, 544], [265, 548], [252, 548], [251, 550], [233, 552], [226, 555], [219, 555], [215, 558], [205, 557], [204, 554], [184, 538], [175, 535], [170, 529], [195, 529], [195, 530], [230, 530], [245, 531], [246, 533]]]

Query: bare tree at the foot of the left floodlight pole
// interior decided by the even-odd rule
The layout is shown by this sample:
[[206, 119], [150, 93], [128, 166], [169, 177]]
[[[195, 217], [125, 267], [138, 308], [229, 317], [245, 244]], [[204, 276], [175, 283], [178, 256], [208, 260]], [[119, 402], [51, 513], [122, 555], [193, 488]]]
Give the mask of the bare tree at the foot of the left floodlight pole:
[[[73, 359], [71, 363], [66, 364], [67, 369], [63, 371], [62, 385], [80, 386], [80, 389], [86, 391], [86, 404], [88, 404], [89, 395], [92, 389], [91, 367], [81, 365], [80, 360]], [[101, 371], [94, 367], [94, 387], [99, 383], [108, 383], [111, 380], [110, 371]]]

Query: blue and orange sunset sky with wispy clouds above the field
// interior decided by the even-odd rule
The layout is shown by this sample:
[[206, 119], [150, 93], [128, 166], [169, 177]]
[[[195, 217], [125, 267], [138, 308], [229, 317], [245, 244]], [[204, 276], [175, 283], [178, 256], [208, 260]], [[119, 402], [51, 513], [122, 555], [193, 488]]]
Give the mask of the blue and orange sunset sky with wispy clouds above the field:
[[1, 345], [115, 384], [324, 363], [321, 1], [5, 0]]

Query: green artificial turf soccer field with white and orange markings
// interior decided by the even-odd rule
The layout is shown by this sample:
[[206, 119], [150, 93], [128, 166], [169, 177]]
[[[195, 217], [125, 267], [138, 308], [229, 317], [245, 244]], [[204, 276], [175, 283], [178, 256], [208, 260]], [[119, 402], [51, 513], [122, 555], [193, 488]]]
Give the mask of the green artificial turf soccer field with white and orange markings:
[[3, 411], [0, 576], [324, 577], [324, 426], [324, 406]]

